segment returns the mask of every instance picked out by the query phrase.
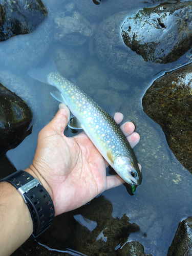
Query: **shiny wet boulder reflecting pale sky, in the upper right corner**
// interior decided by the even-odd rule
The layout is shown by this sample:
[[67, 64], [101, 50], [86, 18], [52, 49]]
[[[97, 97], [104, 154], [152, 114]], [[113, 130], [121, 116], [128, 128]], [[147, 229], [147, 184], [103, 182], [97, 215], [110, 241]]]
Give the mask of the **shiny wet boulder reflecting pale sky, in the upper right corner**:
[[192, 46], [191, 2], [164, 4], [144, 8], [127, 17], [122, 37], [145, 61], [176, 61]]

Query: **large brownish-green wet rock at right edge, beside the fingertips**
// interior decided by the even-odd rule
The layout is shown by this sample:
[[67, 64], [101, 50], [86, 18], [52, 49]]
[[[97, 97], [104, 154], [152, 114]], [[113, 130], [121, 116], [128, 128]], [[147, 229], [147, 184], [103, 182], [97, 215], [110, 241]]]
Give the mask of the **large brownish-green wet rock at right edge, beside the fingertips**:
[[192, 174], [192, 65], [166, 73], [142, 99], [144, 112], [165, 133], [176, 158]]

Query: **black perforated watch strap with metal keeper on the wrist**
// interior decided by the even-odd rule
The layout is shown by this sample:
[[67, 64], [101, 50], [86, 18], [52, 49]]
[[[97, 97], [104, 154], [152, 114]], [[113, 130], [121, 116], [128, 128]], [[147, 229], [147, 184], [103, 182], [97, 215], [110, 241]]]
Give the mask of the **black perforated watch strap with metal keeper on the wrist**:
[[33, 220], [33, 238], [49, 228], [55, 216], [53, 201], [41, 183], [23, 170], [0, 180], [11, 183], [23, 197]]

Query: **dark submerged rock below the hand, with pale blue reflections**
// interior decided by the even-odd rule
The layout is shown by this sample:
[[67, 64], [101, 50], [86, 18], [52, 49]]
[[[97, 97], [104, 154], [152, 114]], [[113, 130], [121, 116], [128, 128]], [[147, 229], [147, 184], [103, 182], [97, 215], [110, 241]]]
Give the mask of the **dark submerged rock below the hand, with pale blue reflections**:
[[75, 244], [75, 250], [86, 255], [117, 256], [117, 248], [140, 227], [130, 223], [126, 214], [113, 218], [112, 212], [112, 203], [101, 195], [89, 204], [58, 216], [37, 241], [51, 248], [56, 245], [59, 250], [74, 248]]

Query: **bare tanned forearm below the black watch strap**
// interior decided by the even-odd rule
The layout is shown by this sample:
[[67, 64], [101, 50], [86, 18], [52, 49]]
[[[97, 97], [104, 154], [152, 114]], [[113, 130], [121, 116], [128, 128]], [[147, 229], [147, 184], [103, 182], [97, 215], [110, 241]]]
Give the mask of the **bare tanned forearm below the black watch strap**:
[[0, 255], [10, 255], [33, 232], [33, 222], [27, 205], [17, 189], [0, 182]]

